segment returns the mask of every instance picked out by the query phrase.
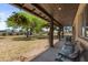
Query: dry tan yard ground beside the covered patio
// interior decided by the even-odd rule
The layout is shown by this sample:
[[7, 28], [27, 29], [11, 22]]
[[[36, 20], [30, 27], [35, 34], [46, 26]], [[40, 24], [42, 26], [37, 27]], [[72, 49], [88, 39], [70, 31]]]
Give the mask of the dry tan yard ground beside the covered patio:
[[29, 40], [23, 36], [0, 36], [0, 61], [31, 61], [48, 46], [48, 39]]

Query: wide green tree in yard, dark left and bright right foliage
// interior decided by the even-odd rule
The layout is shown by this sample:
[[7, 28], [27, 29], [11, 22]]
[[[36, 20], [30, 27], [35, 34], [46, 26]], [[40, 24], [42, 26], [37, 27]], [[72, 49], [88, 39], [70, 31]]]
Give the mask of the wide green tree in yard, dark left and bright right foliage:
[[39, 33], [43, 26], [46, 26], [48, 23], [39, 19], [32, 14], [29, 14], [27, 12], [17, 12], [12, 13], [7, 20], [8, 26], [12, 28], [22, 28], [27, 31], [27, 37], [29, 35], [29, 30], [30, 34]]

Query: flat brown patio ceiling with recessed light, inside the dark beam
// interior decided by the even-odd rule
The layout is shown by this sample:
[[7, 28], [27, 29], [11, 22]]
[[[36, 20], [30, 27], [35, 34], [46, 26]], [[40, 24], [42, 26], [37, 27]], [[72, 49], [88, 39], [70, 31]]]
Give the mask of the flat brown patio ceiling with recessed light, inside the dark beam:
[[43, 8], [56, 21], [62, 25], [71, 25], [76, 12], [78, 10], [77, 3], [40, 3], [33, 4], [35, 7]]

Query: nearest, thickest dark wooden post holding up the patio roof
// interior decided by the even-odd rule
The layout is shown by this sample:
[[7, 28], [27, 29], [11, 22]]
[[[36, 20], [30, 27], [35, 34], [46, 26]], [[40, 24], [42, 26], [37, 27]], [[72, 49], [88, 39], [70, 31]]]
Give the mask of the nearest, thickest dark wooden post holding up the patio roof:
[[53, 47], [53, 21], [52, 21], [52, 19], [50, 22], [49, 44], [50, 44], [50, 47]]

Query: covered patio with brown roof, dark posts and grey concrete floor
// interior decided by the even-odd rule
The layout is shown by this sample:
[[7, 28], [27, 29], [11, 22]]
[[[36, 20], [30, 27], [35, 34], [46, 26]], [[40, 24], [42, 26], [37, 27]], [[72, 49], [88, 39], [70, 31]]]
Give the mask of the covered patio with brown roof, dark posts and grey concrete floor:
[[[75, 19], [79, 11], [79, 3], [13, 3], [13, 6], [35, 14], [49, 23], [49, 48], [35, 57], [33, 62], [53, 62], [56, 54], [65, 41], [65, 26], [72, 28], [72, 36], [76, 40]], [[58, 42], [53, 44], [53, 25], [58, 28]], [[37, 52], [36, 52], [37, 53]], [[81, 58], [84, 61], [84, 58]]]

